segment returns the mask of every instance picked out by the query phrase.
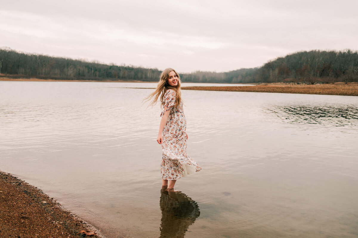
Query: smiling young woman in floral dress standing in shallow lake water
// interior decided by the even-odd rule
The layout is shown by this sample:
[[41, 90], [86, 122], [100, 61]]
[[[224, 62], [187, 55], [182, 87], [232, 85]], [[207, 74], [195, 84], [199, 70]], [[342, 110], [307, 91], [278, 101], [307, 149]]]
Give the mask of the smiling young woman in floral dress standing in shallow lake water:
[[151, 100], [150, 105], [154, 106], [159, 96], [163, 107], [157, 137], [163, 150], [160, 171], [162, 187], [167, 186], [170, 190], [177, 179], [199, 171], [201, 167], [187, 155], [187, 119], [183, 111], [179, 74], [174, 69], [168, 68], [161, 73], [156, 90], [145, 100]]

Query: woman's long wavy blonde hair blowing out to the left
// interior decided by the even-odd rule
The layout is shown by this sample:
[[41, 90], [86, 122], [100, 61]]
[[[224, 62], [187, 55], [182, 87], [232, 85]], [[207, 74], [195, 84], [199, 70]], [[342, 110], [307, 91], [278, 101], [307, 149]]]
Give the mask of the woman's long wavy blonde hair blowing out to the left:
[[[178, 76], [178, 84], [175, 87], [170, 86], [168, 83], [169, 73], [171, 71], [174, 71], [176, 76]], [[180, 100], [182, 100], [182, 93], [180, 92], [180, 77], [179, 77], [179, 74], [172, 68], [164, 69], [164, 71], [161, 72], [160, 77], [159, 77], [158, 86], [156, 87], [155, 91], [153, 93], [149, 94], [148, 97], [144, 98], [143, 101], [144, 102], [150, 101], [149, 106], [154, 106], [158, 102], [158, 98], [160, 96], [160, 102], [161, 102], [160, 106], [161, 106], [161, 108], [163, 108], [164, 107], [164, 104], [163, 104], [164, 93], [168, 89], [172, 89], [175, 91], [176, 98], [175, 98], [174, 107], [178, 107]]]

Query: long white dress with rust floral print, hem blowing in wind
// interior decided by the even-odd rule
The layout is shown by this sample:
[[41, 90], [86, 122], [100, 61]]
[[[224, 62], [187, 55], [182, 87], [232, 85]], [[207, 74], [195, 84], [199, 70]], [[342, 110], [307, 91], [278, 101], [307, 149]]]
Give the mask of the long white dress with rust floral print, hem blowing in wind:
[[187, 119], [183, 111], [183, 102], [174, 108], [176, 93], [169, 89], [163, 98], [164, 110], [160, 116], [170, 110], [168, 120], [163, 128], [163, 159], [160, 164], [161, 177], [177, 180], [188, 174], [201, 170], [201, 167], [187, 155]]

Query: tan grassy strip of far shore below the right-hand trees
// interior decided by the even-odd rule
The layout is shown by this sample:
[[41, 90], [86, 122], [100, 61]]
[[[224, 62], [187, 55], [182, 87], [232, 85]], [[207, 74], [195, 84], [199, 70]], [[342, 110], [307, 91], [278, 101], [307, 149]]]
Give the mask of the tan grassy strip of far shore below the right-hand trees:
[[256, 86], [228, 87], [182, 87], [184, 90], [234, 91], [234, 92], [265, 92], [265, 93], [301, 93], [358, 96], [358, 83], [349, 84], [283, 84], [272, 83]]

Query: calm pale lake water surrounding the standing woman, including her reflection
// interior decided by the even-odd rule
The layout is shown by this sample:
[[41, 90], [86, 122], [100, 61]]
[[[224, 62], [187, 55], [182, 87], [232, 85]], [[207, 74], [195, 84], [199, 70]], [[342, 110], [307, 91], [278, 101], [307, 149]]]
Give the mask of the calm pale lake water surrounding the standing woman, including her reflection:
[[107, 237], [358, 236], [358, 97], [183, 91], [202, 171], [166, 194], [138, 85], [1, 81], [0, 170]]

